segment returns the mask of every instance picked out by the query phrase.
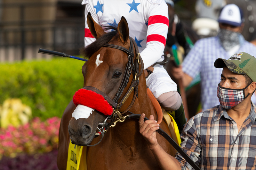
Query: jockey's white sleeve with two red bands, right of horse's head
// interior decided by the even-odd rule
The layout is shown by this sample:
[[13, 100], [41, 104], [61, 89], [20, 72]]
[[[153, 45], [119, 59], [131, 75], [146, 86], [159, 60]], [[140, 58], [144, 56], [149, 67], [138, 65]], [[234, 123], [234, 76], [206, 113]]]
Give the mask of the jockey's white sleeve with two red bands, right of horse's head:
[[146, 17], [148, 18], [147, 46], [141, 52], [144, 69], [156, 63], [164, 52], [169, 26], [168, 6], [162, 0], [148, 0]]

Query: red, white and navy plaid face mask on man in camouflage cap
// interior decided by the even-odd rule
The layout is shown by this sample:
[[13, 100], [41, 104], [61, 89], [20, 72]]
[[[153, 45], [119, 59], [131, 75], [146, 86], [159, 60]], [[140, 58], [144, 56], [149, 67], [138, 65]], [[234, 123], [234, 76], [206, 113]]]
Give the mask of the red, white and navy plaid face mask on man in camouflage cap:
[[245, 96], [244, 90], [248, 86], [249, 85], [247, 85], [243, 89], [228, 89], [225, 87], [221, 87], [219, 84], [218, 88], [217, 88], [217, 96], [219, 98], [221, 106], [225, 109], [231, 109], [232, 107], [241, 103], [250, 94], [250, 93], [248, 93], [248, 95]]

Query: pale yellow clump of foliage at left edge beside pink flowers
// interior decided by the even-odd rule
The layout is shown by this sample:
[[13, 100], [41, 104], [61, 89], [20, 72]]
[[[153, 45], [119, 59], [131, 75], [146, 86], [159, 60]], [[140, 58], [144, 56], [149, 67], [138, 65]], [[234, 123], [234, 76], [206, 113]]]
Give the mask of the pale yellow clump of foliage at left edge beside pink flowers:
[[18, 127], [20, 124], [26, 124], [29, 117], [31, 117], [31, 108], [22, 104], [20, 99], [7, 99], [3, 107], [0, 107], [1, 128], [6, 128], [8, 125]]

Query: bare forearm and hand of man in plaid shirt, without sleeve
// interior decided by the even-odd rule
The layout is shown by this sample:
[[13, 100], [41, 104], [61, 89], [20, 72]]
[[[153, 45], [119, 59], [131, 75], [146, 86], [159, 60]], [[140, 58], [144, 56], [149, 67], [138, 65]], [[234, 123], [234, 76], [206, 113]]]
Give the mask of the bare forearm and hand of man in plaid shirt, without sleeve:
[[153, 152], [158, 165], [161, 169], [181, 170], [179, 161], [173, 156], [169, 155], [158, 144], [156, 139], [156, 130], [159, 129], [159, 124], [156, 124], [154, 116], [150, 115], [149, 120], [143, 121], [145, 114], [140, 116], [139, 127], [140, 133], [148, 143], [150, 150]]

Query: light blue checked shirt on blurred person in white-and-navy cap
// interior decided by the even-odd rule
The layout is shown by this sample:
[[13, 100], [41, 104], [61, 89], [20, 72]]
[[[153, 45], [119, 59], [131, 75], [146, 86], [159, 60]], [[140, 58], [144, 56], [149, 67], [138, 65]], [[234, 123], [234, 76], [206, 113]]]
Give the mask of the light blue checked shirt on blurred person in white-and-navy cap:
[[[256, 46], [245, 41], [243, 36], [240, 36], [240, 45], [237, 52], [245, 52], [256, 56]], [[215, 68], [214, 62], [217, 58], [228, 59], [230, 57], [228, 52], [220, 45], [217, 36], [198, 40], [194, 48], [185, 57], [182, 70], [192, 78], [195, 78], [197, 73], [200, 72], [203, 110], [220, 104], [217, 97], [217, 87], [220, 83], [222, 69]], [[253, 103], [256, 102], [255, 95], [252, 96], [252, 101]]]

